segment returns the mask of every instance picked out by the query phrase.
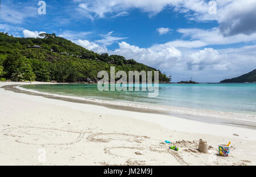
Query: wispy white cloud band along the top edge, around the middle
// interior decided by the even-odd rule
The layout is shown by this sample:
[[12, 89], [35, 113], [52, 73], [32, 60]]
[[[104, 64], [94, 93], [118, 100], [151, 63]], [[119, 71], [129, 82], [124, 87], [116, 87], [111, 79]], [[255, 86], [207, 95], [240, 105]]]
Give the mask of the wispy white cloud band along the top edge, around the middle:
[[[177, 9], [189, 9], [196, 12], [207, 11], [208, 5], [199, 0], [73, 0], [79, 3], [80, 9], [88, 12], [94, 17], [104, 18], [106, 14], [118, 14], [121, 11], [133, 8], [149, 12], [151, 15], [157, 14], [165, 7], [172, 6]], [[184, 10], [183, 10], [184, 11]], [[88, 14], [87, 14], [88, 15]]]

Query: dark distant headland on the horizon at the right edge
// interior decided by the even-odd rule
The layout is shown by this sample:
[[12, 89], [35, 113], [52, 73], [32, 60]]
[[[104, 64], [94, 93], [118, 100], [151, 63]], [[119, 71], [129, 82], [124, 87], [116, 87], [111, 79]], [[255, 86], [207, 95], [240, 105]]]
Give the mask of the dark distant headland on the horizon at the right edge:
[[225, 79], [220, 83], [245, 83], [245, 82], [256, 83], [256, 69], [254, 69], [253, 71], [250, 71], [250, 73], [243, 74], [240, 77]]

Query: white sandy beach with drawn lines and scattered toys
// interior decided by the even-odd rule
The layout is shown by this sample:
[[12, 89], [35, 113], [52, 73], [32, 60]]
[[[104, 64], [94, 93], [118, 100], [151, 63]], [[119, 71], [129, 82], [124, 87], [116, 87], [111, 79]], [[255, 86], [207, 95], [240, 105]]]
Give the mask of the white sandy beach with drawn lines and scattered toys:
[[[0, 87], [17, 84], [29, 83], [0, 82]], [[197, 150], [200, 138], [211, 146], [208, 154]], [[168, 149], [164, 140], [179, 151]], [[217, 144], [229, 141], [229, 156], [218, 156]], [[65, 102], [3, 88], [0, 142], [0, 165], [256, 165], [255, 129]], [[45, 162], [38, 159], [42, 147]]]

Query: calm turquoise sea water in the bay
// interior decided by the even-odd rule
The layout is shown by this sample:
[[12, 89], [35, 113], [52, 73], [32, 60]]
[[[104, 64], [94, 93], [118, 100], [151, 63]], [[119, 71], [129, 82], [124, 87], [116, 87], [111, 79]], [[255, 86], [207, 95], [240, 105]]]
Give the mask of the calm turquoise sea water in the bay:
[[98, 91], [97, 85], [26, 85], [22, 87], [60, 95], [256, 115], [255, 83], [159, 84], [159, 95], [156, 98], [149, 98], [147, 91]]

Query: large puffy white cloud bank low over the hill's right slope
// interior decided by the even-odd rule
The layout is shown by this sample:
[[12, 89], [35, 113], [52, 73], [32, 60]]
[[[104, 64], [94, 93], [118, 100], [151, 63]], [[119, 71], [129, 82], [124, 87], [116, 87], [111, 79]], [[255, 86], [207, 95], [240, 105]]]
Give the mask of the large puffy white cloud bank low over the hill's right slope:
[[133, 58], [138, 62], [166, 71], [167, 73], [171, 73], [172, 69], [177, 68], [180, 68], [180, 72], [204, 69], [226, 70], [226, 67], [229, 65], [229, 62], [226, 61], [226, 55], [218, 53], [213, 48], [183, 52], [172, 47], [170, 43], [156, 44], [150, 48], [139, 48], [138, 46], [121, 42], [119, 43], [119, 48], [110, 51], [110, 53]]

